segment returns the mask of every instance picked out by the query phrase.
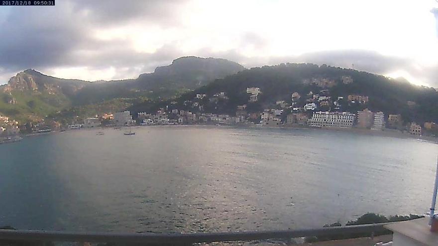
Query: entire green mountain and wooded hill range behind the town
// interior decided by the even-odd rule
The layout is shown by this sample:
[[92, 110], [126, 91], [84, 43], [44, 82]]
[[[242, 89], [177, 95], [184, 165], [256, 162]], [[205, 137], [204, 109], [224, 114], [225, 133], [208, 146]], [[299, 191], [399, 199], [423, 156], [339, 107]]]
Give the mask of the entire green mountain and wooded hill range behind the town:
[[[222, 79], [208, 83], [214, 78]], [[248, 102], [247, 87], [260, 87], [262, 93], [257, 102]], [[342, 111], [355, 113], [367, 107], [386, 115], [401, 114], [405, 123], [438, 122], [437, 91], [405, 80], [314, 64], [280, 64], [244, 70], [230, 61], [195, 57], [177, 59], [154, 73], [124, 81], [62, 80], [26, 70], [11, 78], [8, 85], [0, 86], [0, 114], [22, 124], [46, 116], [67, 122], [73, 116], [89, 117], [126, 107], [133, 115], [152, 112], [169, 106], [170, 101], [176, 101], [172, 109], [194, 113], [202, 110], [234, 114], [236, 106], [242, 104], [247, 104], [246, 111], [255, 113], [270, 108], [276, 100], [290, 102], [294, 91], [302, 95], [298, 101], [298, 106], [302, 106], [308, 92], [319, 93], [323, 89], [329, 89], [332, 100], [349, 94], [369, 96], [367, 104], [343, 103]], [[225, 92], [226, 98], [210, 101], [218, 92]], [[193, 100], [197, 93], [207, 94], [206, 98], [197, 99], [203, 109], [184, 103]]]

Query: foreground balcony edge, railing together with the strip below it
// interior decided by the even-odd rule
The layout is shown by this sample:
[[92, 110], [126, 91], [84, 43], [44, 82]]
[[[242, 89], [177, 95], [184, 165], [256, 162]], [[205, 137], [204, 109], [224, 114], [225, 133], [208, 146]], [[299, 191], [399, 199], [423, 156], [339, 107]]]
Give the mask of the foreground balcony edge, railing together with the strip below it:
[[[291, 245], [296, 238], [361, 237], [329, 242], [306, 243], [302, 246], [373, 246], [377, 242], [391, 241], [391, 232], [385, 228], [394, 223], [357, 226], [325, 227], [285, 231], [229, 232], [200, 234], [152, 234], [152, 233], [74, 233], [54, 231], [0, 230], [0, 245], [48, 245], [57, 242], [111, 243], [111, 245], [193, 245], [215, 242], [232, 242], [234, 245]], [[377, 236], [375, 235], [382, 235]], [[389, 234], [389, 235], [387, 235]], [[266, 243], [266, 240], [276, 240]], [[88, 244], [87, 244], [88, 245]]]

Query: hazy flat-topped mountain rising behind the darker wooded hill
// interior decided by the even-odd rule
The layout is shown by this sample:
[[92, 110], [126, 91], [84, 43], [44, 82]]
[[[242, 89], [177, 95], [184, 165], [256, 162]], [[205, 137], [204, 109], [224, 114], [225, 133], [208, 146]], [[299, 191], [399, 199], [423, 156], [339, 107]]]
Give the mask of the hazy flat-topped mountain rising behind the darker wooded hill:
[[137, 79], [94, 82], [80, 90], [74, 102], [80, 105], [117, 97], [172, 97], [244, 69], [225, 59], [180, 57], [169, 66], [157, 67], [153, 73], [141, 74]]

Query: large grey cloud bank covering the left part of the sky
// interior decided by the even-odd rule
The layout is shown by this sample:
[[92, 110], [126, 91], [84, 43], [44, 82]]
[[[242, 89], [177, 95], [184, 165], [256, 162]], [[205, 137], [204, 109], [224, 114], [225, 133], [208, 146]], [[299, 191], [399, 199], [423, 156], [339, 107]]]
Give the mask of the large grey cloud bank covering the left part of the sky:
[[[120, 25], [134, 20], [153, 20], [154, 25], [174, 21], [174, 12], [184, 1], [60, 1], [55, 7], [11, 8], [0, 22], [0, 72], [10, 74], [27, 68], [144, 66], [147, 57], [176, 55], [136, 52], [126, 40], [97, 40], [93, 28]], [[145, 66], [149, 69], [149, 66]], [[123, 69], [126, 71], [125, 69]], [[4, 77], [2, 78], [5, 82]]]

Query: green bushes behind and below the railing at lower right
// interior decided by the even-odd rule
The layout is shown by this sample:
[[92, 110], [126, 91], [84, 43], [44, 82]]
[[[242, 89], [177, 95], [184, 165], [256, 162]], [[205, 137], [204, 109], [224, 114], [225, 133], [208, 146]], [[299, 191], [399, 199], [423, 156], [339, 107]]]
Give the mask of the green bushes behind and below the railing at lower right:
[[[418, 218], [423, 218], [422, 215], [394, 215], [389, 218], [375, 213], [366, 213], [354, 221], [348, 221], [345, 226], [354, 226], [354, 225], [367, 225], [367, 224], [377, 224], [377, 223], [386, 223], [386, 222], [397, 222], [397, 221], [407, 221]], [[324, 227], [339, 227], [342, 226], [341, 223], [335, 222], [332, 224], [326, 224]], [[375, 236], [391, 234], [392, 232], [389, 230], [385, 230], [382, 233], [376, 233]], [[341, 240], [341, 239], [350, 239], [350, 238], [363, 238], [369, 237], [370, 235], [367, 233], [354, 233], [354, 234], [341, 234], [341, 235], [331, 235], [331, 236], [319, 236], [319, 237], [307, 237], [306, 242], [314, 243], [319, 241], [330, 241], [330, 240]]]

